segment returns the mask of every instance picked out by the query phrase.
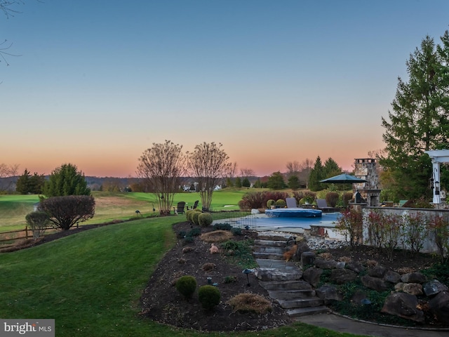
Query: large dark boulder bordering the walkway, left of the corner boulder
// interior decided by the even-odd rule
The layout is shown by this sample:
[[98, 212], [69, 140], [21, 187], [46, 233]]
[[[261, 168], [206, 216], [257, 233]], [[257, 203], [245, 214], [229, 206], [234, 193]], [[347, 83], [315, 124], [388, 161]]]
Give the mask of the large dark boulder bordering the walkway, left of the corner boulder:
[[418, 300], [410, 293], [391, 293], [385, 300], [381, 312], [395, 315], [415, 322], [424, 322], [424, 312], [417, 309]]

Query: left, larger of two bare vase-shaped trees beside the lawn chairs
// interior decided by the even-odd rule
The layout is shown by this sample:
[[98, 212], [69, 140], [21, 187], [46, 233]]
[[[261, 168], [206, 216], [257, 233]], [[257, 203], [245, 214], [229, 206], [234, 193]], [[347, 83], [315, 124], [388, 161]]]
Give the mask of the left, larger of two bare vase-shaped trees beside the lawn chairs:
[[137, 173], [156, 196], [159, 213], [170, 214], [173, 197], [180, 190], [180, 177], [185, 173], [182, 145], [170, 140], [163, 144], [153, 143], [153, 147], [140, 157]]

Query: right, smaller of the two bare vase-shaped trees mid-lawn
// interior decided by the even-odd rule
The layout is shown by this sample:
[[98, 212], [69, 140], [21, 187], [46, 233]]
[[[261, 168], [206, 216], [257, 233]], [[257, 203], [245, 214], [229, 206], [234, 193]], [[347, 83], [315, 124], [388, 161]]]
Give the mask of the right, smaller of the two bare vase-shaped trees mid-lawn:
[[198, 180], [201, 204], [205, 209], [210, 208], [215, 185], [229, 173], [232, 166], [221, 147], [222, 144], [203, 143], [196, 145], [194, 152], [187, 153], [188, 166], [192, 176]]

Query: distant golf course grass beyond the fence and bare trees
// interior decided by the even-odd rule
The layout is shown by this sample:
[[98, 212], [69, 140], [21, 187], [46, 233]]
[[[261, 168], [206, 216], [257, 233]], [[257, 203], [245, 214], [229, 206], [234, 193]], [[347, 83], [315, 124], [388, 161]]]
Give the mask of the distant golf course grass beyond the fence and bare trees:
[[[253, 189], [250, 191], [254, 191]], [[211, 209], [214, 211], [239, 209], [238, 203], [248, 190], [221, 190], [213, 193]], [[112, 220], [126, 220], [136, 216], [138, 210], [142, 216], [152, 215], [153, 207], [159, 213], [154, 194], [135, 192], [93, 192], [95, 198], [95, 216], [81, 225], [105, 223]], [[192, 206], [201, 198], [199, 193], [175, 194], [173, 206], [178, 201], [187, 202]], [[25, 228], [25, 216], [32, 212], [34, 204], [39, 202], [39, 195], [0, 195], [0, 232], [22, 230]]]

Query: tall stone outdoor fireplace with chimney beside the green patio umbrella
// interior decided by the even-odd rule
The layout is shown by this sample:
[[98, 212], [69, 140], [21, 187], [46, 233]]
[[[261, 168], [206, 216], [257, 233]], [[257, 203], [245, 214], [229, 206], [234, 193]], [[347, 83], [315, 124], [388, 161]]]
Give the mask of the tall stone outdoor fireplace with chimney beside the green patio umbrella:
[[355, 160], [355, 176], [366, 180], [366, 183], [354, 184], [354, 188], [360, 192], [366, 200], [366, 206], [380, 206], [380, 183], [377, 173], [376, 159], [361, 158]]

